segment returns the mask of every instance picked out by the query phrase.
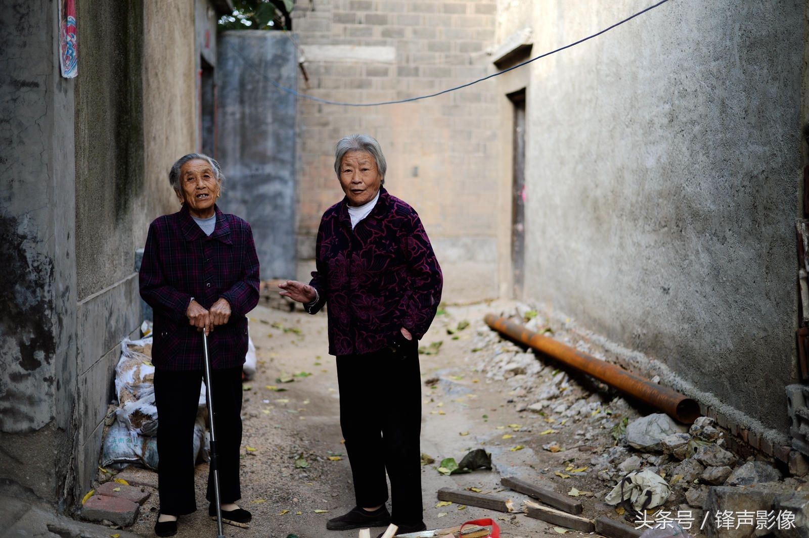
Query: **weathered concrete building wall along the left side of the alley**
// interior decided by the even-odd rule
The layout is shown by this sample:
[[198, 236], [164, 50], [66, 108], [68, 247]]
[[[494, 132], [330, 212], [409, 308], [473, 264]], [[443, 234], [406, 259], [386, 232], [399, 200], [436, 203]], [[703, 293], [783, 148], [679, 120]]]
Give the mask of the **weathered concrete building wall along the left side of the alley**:
[[195, 141], [177, 23], [193, 7], [79, 2], [72, 80], [57, 3], [12, 2], [0, 29], [0, 480], [62, 508], [95, 477], [118, 343], [141, 322], [134, 250], [179, 207], [166, 176]]

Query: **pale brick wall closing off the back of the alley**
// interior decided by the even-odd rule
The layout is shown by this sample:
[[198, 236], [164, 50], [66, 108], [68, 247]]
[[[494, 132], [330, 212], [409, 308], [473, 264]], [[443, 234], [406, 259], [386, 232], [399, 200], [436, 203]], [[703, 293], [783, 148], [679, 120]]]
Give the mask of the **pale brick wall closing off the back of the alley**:
[[[299, 90], [322, 99], [406, 99], [493, 71], [495, 2], [320, 0], [298, 2], [294, 31], [306, 58]], [[341, 200], [334, 145], [376, 137], [388, 160], [385, 187], [421, 215], [442, 264], [446, 301], [498, 295], [496, 229], [503, 174], [491, 82], [417, 103], [344, 107], [299, 102], [299, 278], [314, 257], [320, 216]]]

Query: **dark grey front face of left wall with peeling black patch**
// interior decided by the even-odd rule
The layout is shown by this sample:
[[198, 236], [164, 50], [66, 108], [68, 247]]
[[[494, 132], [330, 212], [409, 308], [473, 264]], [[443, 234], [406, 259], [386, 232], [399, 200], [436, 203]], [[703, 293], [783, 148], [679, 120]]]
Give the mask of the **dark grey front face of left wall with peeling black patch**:
[[74, 82], [57, 4], [11, 2], [0, 28], [0, 478], [69, 503], [76, 400]]

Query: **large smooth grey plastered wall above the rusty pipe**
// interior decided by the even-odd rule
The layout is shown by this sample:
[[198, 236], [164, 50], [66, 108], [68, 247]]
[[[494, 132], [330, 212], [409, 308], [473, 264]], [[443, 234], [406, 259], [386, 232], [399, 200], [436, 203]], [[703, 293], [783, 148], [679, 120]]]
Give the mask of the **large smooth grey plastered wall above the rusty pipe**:
[[[647, 3], [536, 2], [533, 54]], [[804, 9], [669, 2], [527, 91], [526, 296], [784, 433]]]

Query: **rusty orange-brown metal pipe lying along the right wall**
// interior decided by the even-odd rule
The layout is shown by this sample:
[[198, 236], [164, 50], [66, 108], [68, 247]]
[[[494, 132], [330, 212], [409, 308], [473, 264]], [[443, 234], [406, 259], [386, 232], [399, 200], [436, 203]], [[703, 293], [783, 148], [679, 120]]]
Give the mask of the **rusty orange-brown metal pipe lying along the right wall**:
[[565, 346], [565, 344], [557, 342], [553, 338], [527, 330], [519, 323], [510, 322], [505, 317], [497, 317], [489, 313], [486, 314], [485, 322], [489, 327], [509, 338], [549, 355], [553, 359], [595, 377], [597, 380], [604, 381], [607, 385], [662, 410], [679, 422], [691, 424], [700, 416], [700, 406], [697, 401], [684, 397], [667, 387], [656, 385], [645, 377], [637, 376], [620, 366], [596, 359], [591, 355], [587, 355], [587, 353], [575, 350], [573, 347]]

